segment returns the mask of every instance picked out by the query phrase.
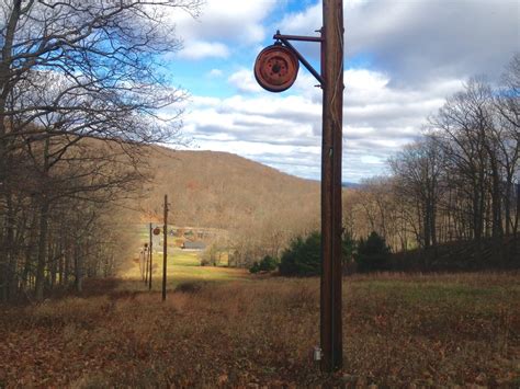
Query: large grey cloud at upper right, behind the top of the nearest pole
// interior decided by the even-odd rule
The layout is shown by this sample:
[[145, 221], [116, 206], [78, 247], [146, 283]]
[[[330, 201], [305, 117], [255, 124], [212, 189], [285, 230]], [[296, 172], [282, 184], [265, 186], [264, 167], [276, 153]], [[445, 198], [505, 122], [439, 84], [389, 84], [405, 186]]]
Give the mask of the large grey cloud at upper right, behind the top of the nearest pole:
[[[402, 85], [425, 79], [496, 79], [520, 50], [520, 2], [357, 0], [344, 3], [347, 58], [364, 56]], [[321, 3], [284, 15], [286, 34], [313, 34]], [[318, 47], [305, 48], [319, 56]]]

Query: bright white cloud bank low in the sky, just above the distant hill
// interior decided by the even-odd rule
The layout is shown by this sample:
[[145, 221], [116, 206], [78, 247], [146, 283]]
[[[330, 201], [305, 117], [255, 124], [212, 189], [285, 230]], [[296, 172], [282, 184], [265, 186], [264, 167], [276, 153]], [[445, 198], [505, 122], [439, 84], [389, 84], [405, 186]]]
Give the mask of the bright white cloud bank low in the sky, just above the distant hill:
[[[251, 75], [252, 70], [241, 69], [228, 81], [253, 90]], [[194, 96], [184, 121], [186, 135], [201, 149], [235, 152], [319, 179], [321, 91], [314, 88], [312, 76], [301, 77], [298, 95], [265, 91], [223, 99]], [[387, 157], [415, 139], [426, 117], [461, 88], [461, 81], [446, 79], [425, 83], [420, 90], [399, 89], [389, 76], [366, 69], [347, 70], [344, 81], [343, 180], [348, 181], [382, 173]]]

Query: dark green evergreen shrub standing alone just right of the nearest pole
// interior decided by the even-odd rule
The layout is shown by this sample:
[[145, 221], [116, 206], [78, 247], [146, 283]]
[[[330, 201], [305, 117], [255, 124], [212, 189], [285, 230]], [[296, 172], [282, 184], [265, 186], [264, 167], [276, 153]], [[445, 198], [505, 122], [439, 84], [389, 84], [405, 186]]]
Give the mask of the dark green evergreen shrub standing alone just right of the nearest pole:
[[385, 239], [372, 231], [366, 241], [359, 241], [354, 259], [360, 272], [386, 271], [389, 268], [391, 250]]

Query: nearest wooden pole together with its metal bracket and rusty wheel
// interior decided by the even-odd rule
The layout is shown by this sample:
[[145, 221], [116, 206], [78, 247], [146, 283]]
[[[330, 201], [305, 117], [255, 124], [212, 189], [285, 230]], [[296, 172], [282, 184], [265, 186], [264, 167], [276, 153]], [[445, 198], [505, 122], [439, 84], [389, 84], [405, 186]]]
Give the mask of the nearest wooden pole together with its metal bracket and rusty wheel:
[[[321, 370], [335, 371], [343, 365], [341, 321], [341, 158], [343, 108], [343, 1], [323, 0], [321, 36], [274, 34], [274, 45], [265, 47], [255, 62], [258, 83], [271, 92], [291, 88], [299, 62], [318, 80], [323, 95], [321, 138], [321, 283], [320, 342]], [[319, 73], [290, 41], [316, 42], [321, 46]]]

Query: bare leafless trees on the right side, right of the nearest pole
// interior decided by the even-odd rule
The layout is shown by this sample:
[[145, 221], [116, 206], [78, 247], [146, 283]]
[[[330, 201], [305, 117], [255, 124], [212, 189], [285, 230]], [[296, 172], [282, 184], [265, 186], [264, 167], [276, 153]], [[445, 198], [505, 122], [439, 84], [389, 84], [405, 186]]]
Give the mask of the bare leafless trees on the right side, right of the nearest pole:
[[518, 265], [519, 138], [517, 54], [499, 87], [474, 78], [448, 98], [421, 138], [389, 159], [391, 176], [346, 194], [346, 228], [358, 238], [376, 231], [394, 252], [421, 249], [417, 261], [460, 242], [477, 267]]

